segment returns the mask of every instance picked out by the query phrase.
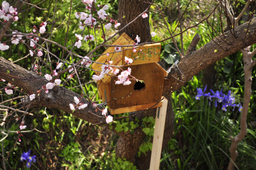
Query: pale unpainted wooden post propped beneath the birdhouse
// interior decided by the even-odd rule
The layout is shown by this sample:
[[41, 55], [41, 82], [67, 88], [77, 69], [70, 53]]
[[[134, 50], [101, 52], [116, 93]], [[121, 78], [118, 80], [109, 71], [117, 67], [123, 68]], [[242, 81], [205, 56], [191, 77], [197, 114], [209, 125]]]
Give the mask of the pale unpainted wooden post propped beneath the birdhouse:
[[[165, 117], [167, 111], [168, 100], [162, 101], [162, 107], [157, 108], [157, 116], [155, 117], [155, 131], [153, 138], [153, 146], [150, 160], [150, 170], [159, 170], [160, 157], [163, 143], [163, 131], [165, 130]], [[159, 112], [160, 109], [160, 112]]]

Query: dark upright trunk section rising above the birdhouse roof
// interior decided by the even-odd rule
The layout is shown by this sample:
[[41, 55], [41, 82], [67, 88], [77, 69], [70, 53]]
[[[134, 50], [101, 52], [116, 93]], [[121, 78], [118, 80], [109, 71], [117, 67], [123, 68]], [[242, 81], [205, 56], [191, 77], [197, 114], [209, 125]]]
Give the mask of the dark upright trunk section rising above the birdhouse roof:
[[[152, 0], [148, 0], [147, 2], [149, 3], [144, 3], [143, 1], [140, 1], [140, 0], [119, 0], [118, 1], [118, 18], [122, 18], [123, 16], [125, 16], [125, 18], [120, 20], [121, 25], [119, 29], [123, 28], [123, 26], [130, 23], [139, 14], [145, 11], [147, 7], [150, 5], [150, 3], [152, 2]], [[149, 15], [148, 12], [147, 14]], [[138, 18], [136, 22], [133, 22], [124, 30], [122, 30], [120, 32], [120, 35], [122, 33], [126, 33], [129, 37], [132, 37], [132, 39], [135, 39], [136, 35], [139, 35], [139, 37], [141, 38], [140, 39], [141, 42], [151, 41], [149, 17]]]

